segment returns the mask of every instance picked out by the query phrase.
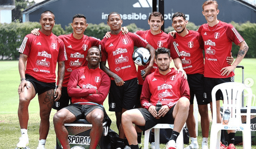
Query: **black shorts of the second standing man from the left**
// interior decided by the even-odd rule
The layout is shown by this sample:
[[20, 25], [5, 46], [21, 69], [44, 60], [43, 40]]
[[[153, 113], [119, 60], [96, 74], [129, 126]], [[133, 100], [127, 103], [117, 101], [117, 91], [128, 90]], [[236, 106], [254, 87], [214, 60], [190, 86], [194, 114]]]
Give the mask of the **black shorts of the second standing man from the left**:
[[58, 101], [54, 102], [52, 109], [61, 110], [63, 107], [68, 106], [69, 103], [71, 103], [71, 97], [67, 94], [67, 87], [62, 87], [62, 96]]

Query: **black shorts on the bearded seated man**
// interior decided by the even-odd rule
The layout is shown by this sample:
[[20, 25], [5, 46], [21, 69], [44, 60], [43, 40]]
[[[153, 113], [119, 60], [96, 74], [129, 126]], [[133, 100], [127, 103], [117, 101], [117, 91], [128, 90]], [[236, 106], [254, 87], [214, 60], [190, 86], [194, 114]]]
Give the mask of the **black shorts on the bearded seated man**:
[[174, 124], [174, 117], [172, 116], [172, 113], [174, 112], [174, 106], [171, 107], [171, 109], [164, 115], [164, 117], [160, 119], [156, 119], [153, 117], [153, 115], [145, 108], [138, 109], [141, 114], [143, 115], [146, 123], [145, 126], [138, 126], [142, 131], [148, 130], [149, 128], [152, 128], [153, 126], [157, 125], [158, 123], [169, 123]]

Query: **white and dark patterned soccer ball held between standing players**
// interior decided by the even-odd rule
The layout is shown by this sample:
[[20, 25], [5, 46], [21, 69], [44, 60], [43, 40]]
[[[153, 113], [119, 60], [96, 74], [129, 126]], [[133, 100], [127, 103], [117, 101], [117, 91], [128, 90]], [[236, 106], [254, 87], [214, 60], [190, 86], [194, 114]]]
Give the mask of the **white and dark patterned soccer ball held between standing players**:
[[139, 47], [134, 50], [132, 59], [137, 65], [146, 65], [150, 60], [150, 52], [144, 47]]

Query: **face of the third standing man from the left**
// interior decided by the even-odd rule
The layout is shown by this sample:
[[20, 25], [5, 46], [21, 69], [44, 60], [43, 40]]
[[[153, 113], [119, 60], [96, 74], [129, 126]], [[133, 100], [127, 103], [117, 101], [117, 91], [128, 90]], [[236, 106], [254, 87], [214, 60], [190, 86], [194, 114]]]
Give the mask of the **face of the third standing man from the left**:
[[111, 14], [107, 23], [111, 30], [119, 30], [122, 27], [123, 20], [121, 20], [120, 15]]

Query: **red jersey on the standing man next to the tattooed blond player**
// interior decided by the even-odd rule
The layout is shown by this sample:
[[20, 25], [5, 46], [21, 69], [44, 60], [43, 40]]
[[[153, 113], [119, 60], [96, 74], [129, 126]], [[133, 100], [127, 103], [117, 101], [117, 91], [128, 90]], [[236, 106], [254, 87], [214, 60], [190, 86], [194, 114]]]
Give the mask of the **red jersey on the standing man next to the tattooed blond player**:
[[175, 42], [186, 74], [204, 74], [204, 55], [202, 54], [204, 41], [200, 33], [189, 30], [189, 34], [184, 37], [176, 34]]

